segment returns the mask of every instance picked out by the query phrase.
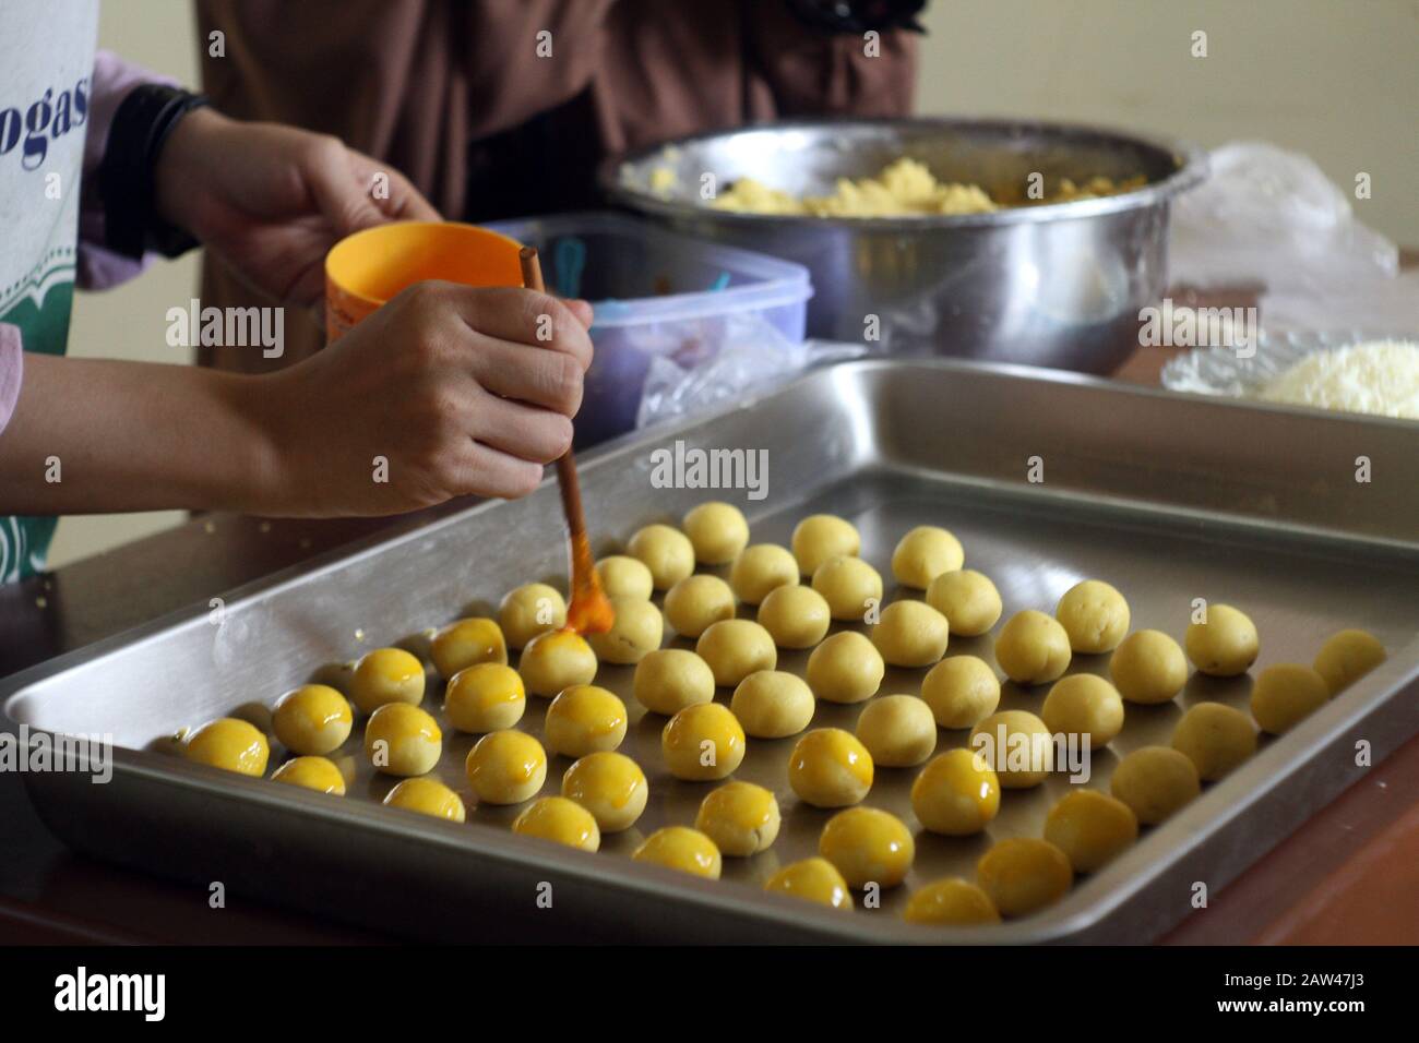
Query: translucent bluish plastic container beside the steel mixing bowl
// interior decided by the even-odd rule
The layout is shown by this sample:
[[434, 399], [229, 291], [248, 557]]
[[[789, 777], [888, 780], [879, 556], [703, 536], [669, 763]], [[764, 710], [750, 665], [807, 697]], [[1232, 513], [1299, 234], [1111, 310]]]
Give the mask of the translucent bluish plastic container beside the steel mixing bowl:
[[[497, 221], [492, 231], [535, 245], [546, 287], [592, 302], [596, 359], [576, 417], [578, 447], [636, 427], [651, 359], [685, 368], [714, 358], [745, 324], [803, 339], [807, 268], [736, 247], [704, 243], [614, 213]], [[765, 336], [765, 343], [772, 343]], [[768, 348], [766, 348], [768, 349]]]

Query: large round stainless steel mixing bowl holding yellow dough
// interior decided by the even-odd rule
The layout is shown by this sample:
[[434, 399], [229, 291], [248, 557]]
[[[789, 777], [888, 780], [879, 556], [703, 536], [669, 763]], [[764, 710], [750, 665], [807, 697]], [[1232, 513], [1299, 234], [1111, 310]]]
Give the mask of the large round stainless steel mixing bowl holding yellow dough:
[[[1137, 190], [955, 217], [773, 217], [700, 199], [753, 177], [820, 194], [898, 156], [941, 180], [1019, 197], [1032, 173], [1145, 175]], [[658, 187], [668, 170], [673, 187]], [[956, 355], [1104, 373], [1138, 345], [1138, 312], [1166, 285], [1168, 209], [1206, 175], [1183, 145], [1114, 131], [1003, 119], [803, 121], [707, 133], [613, 159], [612, 199], [680, 231], [797, 261], [813, 272], [809, 335], [901, 355]], [[653, 176], [657, 187], [653, 187]]]

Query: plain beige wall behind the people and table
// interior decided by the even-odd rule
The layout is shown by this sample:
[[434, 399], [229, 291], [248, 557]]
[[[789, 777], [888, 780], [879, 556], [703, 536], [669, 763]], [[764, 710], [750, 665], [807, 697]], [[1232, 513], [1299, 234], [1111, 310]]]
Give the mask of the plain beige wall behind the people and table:
[[[102, 47], [196, 81], [187, 0], [105, 0], [102, 11]], [[1342, 186], [1368, 172], [1362, 220], [1419, 245], [1419, 0], [932, 0], [925, 26], [922, 114], [1111, 123], [1203, 146], [1270, 140]], [[1198, 30], [1206, 58], [1191, 55]], [[82, 295], [71, 353], [176, 360], [163, 315], [192, 297], [196, 271], [187, 257]], [[51, 563], [182, 517], [65, 518]]]

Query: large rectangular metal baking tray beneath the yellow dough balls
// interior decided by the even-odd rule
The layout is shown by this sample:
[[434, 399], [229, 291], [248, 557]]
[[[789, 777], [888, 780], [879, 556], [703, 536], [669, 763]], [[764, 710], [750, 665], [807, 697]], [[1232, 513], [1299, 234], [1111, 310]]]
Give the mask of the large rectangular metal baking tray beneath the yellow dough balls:
[[[656, 488], [657, 448], [768, 450], [768, 495], [742, 490]], [[1030, 482], [1032, 458], [1043, 482]], [[1357, 482], [1368, 457], [1372, 481]], [[1193, 597], [1243, 607], [1261, 633], [1256, 668], [1308, 663], [1335, 630], [1365, 627], [1389, 660], [1259, 754], [1059, 904], [989, 928], [921, 928], [901, 921], [907, 894], [948, 874], [973, 876], [992, 840], [1037, 836], [1063, 776], [1007, 790], [986, 834], [917, 833], [907, 884], [881, 908], [834, 912], [762, 893], [776, 867], [816, 851], [829, 812], [797, 802], [786, 783], [793, 739], [749, 742], [736, 778], [773, 789], [783, 809], [776, 844], [725, 860], [704, 881], [627, 857], [668, 823], [691, 823], [712, 783], [671, 779], [658, 749], [663, 718], [630, 698], [630, 667], [597, 683], [631, 711], [623, 751], [650, 778], [650, 805], [633, 832], [596, 856], [514, 836], [515, 807], [473, 807], [463, 776], [471, 739], [446, 729], [438, 775], [470, 803], [461, 826], [380, 807], [392, 780], [358, 762], [359, 728], [345, 748], [355, 778], [345, 799], [231, 776], [159, 752], [175, 729], [271, 704], [326, 663], [485, 612], [532, 579], [565, 585], [563, 525], [551, 482], [518, 502], [482, 502], [421, 529], [370, 541], [226, 596], [226, 617], [194, 606], [140, 630], [11, 678], [6, 714], [53, 732], [112, 732], [114, 778], [30, 773], [51, 829], [75, 849], [194, 884], [211, 881], [407, 935], [450, 939], [1138, 942], [1192, 911], [1195, 883], [1216, 895], [1229, 880], [1342, 788], [1358, 780], [1355, 744], [1374, 759], [1419, 731], [1419, 431], [1410, 424], [1315, 416], [1175, 396], [1067, 373], [959, 362], [860, 362], [812, 372], [707, 419], [630, 436], [582, 461], [597, 551], [640, 525], [675, 519], [708, 498], [739, 504], [755, 541], [786, 542], [797, 518], [833, 511], [854, 521], [863, 555], [887, 578], [897, 538], [945, 525], [969, 566], [1000, 587], [1006, 613], [1053, 610], [1081, 578], [1124, 590], [1132, 626], [1182, 634]], [[219, 592], [213, 592], [214, 595]], [[667, 641], [673, 641], [667, 633]], [[988, 661], [989, 639], [952, 639], [948, 654]], [[803, 654], [780, 668], [802, 670]], [[1071, 670], [1104, 671], [1107, 657]], [[924, 671], [890, 670], [883, 692], [915, 692]], [[1095, 755], [1088, 785], [1107, 786], [1117, 758], [1166, 742], [1186, 707], [1246, 707], [1250, 677], [1193, 675], [1175, 702], [1128, 707], [1122, 734]], [[718, 698], [727, 700], [728, 691]], [[1002, 708], [1037, 710], [1044, 688], [1007, 684]], [[441, 692], [430, 687], [426, 705]], [[529, 700], [521, 727], [541, 732], [545, 704]], [[851, 728], [861, 707], [819, 704], [813, 727]], [[437, 710], [436, 710], [437, 712]], [[938, 749], [965, 732], [939, 734]], [[272, 756], [272, 762], [278, 758]], [[545, 793], [565, 759], [553, 759]], [[867, 805], [917, 829], [914, 769], [878, 769]], [[552, 908], [541, 908], [541, 885]], [[200, 888], [200, 893], [196, 891]], [[228, 901], [231, 898], [228, 897]]]

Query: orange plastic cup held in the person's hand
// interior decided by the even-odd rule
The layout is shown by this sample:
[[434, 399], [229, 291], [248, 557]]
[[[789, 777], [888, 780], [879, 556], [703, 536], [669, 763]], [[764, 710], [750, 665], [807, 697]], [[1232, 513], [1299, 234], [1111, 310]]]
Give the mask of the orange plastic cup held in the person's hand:
[[424, 280], [521, 287], [521, 248], [514, 238], [454, 221], [399, 221], [356, 231], [325, 255], [326, 341]]

